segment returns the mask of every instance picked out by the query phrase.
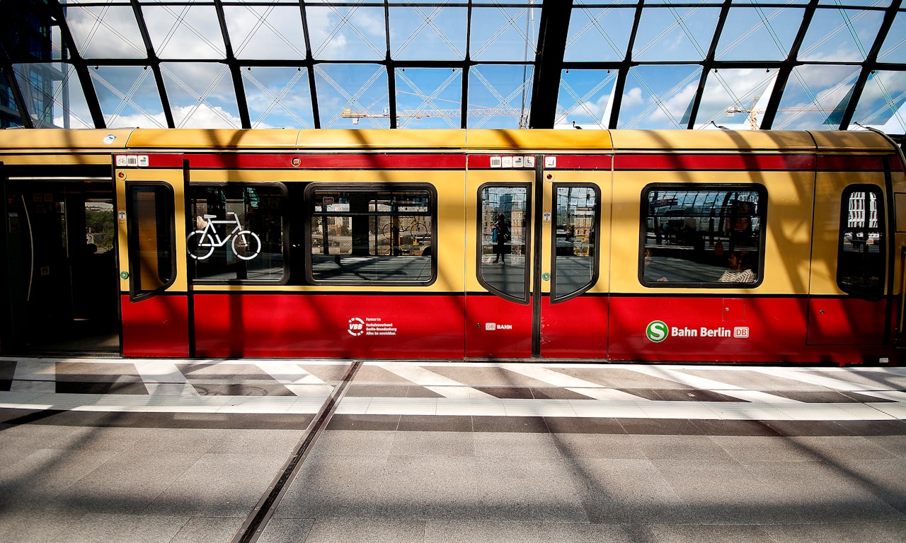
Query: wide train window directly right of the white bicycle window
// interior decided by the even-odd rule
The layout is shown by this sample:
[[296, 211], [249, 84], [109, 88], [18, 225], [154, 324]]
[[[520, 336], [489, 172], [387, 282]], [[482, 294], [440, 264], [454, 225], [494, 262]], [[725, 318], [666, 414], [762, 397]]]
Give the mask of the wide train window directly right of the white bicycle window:
[[435, 280], [433, 186], [319, 183], [306, 189], [305, 202], [309, 281], [426, 285]]

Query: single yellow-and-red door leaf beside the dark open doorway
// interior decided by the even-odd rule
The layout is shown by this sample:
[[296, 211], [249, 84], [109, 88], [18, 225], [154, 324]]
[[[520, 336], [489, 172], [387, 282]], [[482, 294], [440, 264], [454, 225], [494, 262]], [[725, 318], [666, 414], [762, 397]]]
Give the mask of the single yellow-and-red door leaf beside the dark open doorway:
[[184, 170], [172, 155], [117, 155], [123, 356], [189, 357]]

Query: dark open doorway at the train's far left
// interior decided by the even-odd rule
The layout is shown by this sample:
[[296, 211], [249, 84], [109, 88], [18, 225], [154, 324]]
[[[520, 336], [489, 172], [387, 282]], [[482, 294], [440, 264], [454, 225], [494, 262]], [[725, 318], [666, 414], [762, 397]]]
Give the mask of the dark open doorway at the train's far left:
[[119, 353], [110, 178], [9, 177], [4, 196], [4, 352]]

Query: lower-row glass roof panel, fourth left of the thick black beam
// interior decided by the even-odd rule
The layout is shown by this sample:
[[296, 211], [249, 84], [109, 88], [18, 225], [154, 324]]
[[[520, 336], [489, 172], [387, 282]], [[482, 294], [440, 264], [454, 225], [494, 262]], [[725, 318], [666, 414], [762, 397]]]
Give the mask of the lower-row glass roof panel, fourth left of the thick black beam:
[[253, 129], [313, 129], [307, 68], [243, 67]]

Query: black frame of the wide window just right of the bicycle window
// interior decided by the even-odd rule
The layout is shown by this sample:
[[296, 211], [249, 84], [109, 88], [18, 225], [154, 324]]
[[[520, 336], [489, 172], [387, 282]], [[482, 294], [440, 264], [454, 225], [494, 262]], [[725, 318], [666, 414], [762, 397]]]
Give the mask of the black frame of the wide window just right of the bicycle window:
[[[375, 194], [381, 192], [389, 193], [404, 193], [407, 191], [415, 192], [420, 191], [427, 193], [428, 195], [428, 214], [423, 214], [422, 216], [430, 217], [431, 228], [430, 228], [430, 276], [428, 279], [416, 280], [416, 281], [400, 281], [400, 280], [385, 280], [385, 281], [374, 281], [374, 280], [361, 280], [361, 281], [350, 281], [346, 279], [318, 279], [314, 277], [314, 268], [313, 268], [313, 235], [312, 235], [312, 224], [314, 216], [324, 216], [324, 215], [315, 215], [314, 214], [314, 204], [315, 199], [314, 195], [319, 191], [328, 191], [328, 192], [358, 192], [361, 194]], [[410, 286], [410, 287], [428, 287], [434, 284], [438, 280], [438, 190], [435, 186], [430, 184], [427, 181], [424, 182], [402, 182], [402, 183], [371, 183], [371, 182], [333, 182], [333, 181], [317, 181], [310, 183], [305, 186], [303, 198], [303, 246], [304, 246], [304, 276], [305, 281], [308, 284], [312, 285], [337, 285], [345, 287], [371, 287], [376, 286]], [[388, 216], [390, 213], [381, 212], [380, 214], [375, 211], [373, 214], [369, 213], [370, 216]], [[398, 214], [400, 216], [410, 216], [409, 214]], [[342, 216], [342, 215], [333, 215], [333, 216]], [[352, 212], [348, 216], [352, 216]], [[342, 256], [342, 255], [338, 255]], [[380, 257], [381, 255], [373, 255], [374, 257]], [[394, 255], [386, 255], [394, 256]]]

